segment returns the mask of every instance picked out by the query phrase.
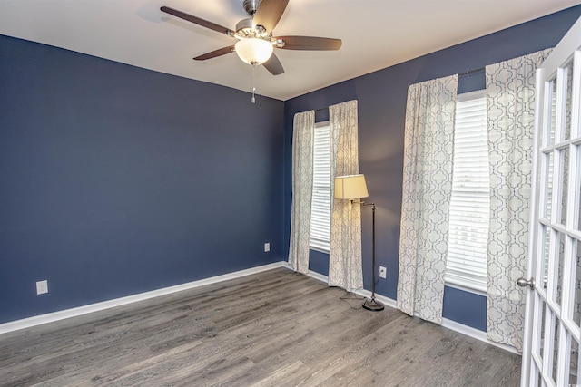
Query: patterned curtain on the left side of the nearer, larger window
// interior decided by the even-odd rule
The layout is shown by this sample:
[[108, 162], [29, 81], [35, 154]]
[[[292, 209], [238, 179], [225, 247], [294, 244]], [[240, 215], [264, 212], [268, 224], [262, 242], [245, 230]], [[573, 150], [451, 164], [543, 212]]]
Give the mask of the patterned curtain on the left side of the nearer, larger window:
[[458, 75], [408, 90], [398, 308], [442, 323]]

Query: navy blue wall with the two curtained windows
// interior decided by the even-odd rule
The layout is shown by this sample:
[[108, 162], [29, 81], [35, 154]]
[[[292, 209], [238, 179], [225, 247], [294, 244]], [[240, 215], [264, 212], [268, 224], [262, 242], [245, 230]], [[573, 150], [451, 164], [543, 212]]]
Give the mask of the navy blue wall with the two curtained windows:
[[[403, 165], [403, 134], [406, 97], [410, 84], [454, 73], [464, 73], [557, 44], [581, 15], [581, 6], [520, 24], [496, 34], [430, 53], [406, 63], [369, 73], [347, 82], [302, 95], [285, 102], [285, 256], [291, 218], [292, 117], [296, 112], [359, 100], [359, 167], [369, 188], [369, 200], [377, 206], [377, 265], [387, 266], [388, 276], [380, 280], [380, 295], [396, 298], [398, 281], [399, 218]], [[426, 32], [428, 34], [428, 32]], [[467, 91], [484, 85], [483, 73], [460, 79], [458, 88]], [[478, 79], [478, 77], [480, 77]], [[476, 79], [474, 79], [476, 78]], [[363, 273], [365, 287], [371, 285], [371, 218], [362, 210]], [[311, 255], [311, 269], [327, 274], [328, 257]], [[478, 329], [486, 329], [486, 299], [447, 288], [444, 316]]]

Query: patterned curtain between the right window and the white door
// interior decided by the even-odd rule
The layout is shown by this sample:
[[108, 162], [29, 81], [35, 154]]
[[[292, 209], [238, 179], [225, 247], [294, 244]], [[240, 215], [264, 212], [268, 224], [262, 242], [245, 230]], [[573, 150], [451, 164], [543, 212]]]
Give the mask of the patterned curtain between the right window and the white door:
[[522, 348], [535, 126], [535, 71], [551, 50], [487, 66], [490, 159], [487, 336]]

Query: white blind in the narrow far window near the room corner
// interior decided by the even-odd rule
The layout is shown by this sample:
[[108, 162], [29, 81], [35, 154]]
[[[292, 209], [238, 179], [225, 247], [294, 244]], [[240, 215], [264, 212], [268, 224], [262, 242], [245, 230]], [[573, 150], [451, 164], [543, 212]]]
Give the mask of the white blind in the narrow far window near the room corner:
[[328, 253], [330, 241], [329, 121], [315, 124], [312, 203], [310, 206], [310, 248]]

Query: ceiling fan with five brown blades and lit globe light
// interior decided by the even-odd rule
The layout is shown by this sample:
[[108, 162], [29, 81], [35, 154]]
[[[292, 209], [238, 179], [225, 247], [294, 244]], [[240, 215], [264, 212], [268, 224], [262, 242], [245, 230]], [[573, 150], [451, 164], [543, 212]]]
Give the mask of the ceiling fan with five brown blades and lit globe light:
[[274, 48], [284, 50], [339, 50], [340, 39], [314, 36], [273, 36], [272, 30], [281, 20], [289, 0], [244, 0], [244, 10], [250, 18], [242, 19], [236, 24], [236, 31], [222, 25], [203, 20], [200, 17], [186, 14], [169, 6], [160, 9], [170, 15], [177, 16], [193, 24], [202, 25], [221, 34], [237, 39], [236, 44], [204, 53], [193, 58], [205, 61], [227, 53], [237, 53], [242, 61], [252, 66], [264, 65], [272, 75], [284, 73], [281, 61], [273, 53]]

